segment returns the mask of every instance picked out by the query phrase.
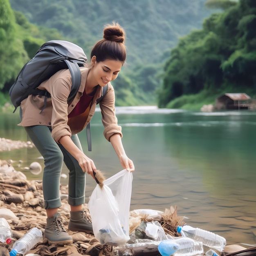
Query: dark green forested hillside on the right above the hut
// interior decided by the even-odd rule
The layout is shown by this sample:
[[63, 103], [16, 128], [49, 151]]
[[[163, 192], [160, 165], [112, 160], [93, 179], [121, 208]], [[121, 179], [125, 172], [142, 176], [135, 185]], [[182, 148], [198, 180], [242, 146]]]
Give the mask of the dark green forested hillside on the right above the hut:
[[203, 29], [184, 36], [171, 50], [158, 91], [159, 107], [180, 108], [191, 95], [205, 91], [211, 97], [227, 89], [255, 90], [256, 1], [209, 0], [207, 5], [225, 11], [205, 19]]

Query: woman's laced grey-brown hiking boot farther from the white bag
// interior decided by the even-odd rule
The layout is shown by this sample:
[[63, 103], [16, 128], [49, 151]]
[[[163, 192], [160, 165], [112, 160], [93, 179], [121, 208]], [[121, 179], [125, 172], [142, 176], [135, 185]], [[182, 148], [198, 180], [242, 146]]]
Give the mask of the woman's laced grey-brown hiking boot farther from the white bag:
[[72, 236], [69, 236], [63, 227], [60, 213], [55, 213], [52, 218], [47, 218], [46, 222], [45, 238], [50, 244], [72, 245]]

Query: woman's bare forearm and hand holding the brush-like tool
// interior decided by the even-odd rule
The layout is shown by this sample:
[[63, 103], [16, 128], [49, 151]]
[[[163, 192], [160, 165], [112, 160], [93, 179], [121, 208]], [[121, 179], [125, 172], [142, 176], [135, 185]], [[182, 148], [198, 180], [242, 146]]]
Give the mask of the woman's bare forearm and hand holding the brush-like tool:
[[92, 159], [86, 156], [72, 141], [70, 136], [65, 135], [59, 139], [62, 146], [78, 161], [83, 172], [86, 172], [94, 178], [93, 171], [97, 171]]

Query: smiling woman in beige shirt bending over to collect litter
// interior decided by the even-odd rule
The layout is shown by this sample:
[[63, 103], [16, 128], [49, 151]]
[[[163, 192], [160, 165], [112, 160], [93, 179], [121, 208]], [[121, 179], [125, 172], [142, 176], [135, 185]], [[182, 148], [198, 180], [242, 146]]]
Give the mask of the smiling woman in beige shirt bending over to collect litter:
[[107, 84], [108, 91], [100, 102], [105, 128], [103, 134], [115, 149], [121, 166], [128, 171], [135, 170], [122, 145], [121, 127], [115, 115], [115, 92], [110, 84], [117, 78], [126, 60], [124, 39], [124, 29], [118, 23], [113, 22], [105, 27], [103, 39], [92, 48], [90, 67], [81, 67], [81, 85], [71, 102], [67, 102], [72, 85], [68, 69], [60, 70], [38, 87], [51, 94], [42, 112], [44, 97], [29, 95], [21, 102], [19, 125], [25, 127], [45, 161], [43, 195], [47, 225], [44, 235], [49, 243], [72, 243], [72, 237], [67, 234], [58, 213], [61, 207], [59, 186], [63, 161], [69, 169], [68, 229], [92, 234], [92, 224], [84, 219], [82, 205], [85, 202], [85, 173], [94, 177], [93, 172], [97, 172], [97, 168], [93, 160], [83, 153], [77, 133], [92, 119], [96, 100], [102, 96], [103, 87]]

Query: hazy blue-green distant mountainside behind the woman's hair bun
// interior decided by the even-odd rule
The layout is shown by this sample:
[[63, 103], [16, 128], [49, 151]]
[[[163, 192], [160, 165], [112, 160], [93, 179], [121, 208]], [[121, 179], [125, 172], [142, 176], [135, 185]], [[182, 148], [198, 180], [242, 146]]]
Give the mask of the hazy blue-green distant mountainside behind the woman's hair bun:
[[179, 36], [201, 28], [210, 11], [206, 0], [10, 0], [37, 25], [56, 28], [85, 48], [102, 36], [106, 23], [116, 20], [126, 28], [128, 62], [159, 62]]

